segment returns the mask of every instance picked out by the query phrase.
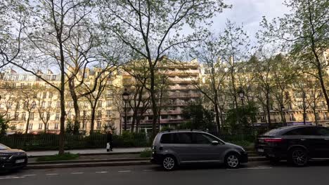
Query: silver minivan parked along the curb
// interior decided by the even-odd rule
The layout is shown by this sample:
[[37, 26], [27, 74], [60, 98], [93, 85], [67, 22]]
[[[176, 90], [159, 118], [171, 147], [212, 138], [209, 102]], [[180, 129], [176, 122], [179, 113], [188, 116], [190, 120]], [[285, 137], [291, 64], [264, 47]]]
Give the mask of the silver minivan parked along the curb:
[[151, 162], [164, 170], [188, 163], [224, 163], [228, 168], [238, 168], [247, 161], [243, 147], [197, 130], [160, 132], [152, 146]]

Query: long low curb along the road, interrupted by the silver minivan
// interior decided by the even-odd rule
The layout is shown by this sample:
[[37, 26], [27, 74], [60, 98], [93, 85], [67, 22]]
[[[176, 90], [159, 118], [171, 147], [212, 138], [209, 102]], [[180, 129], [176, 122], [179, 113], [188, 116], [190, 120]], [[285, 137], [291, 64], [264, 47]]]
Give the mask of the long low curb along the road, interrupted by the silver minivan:
[[[265, 157], [250, 157], [249, 162], [265, 161]], [[127, 166], [127, 165], [151, 165], [149, 158], [120, 158], [105, 160], [66, 160], [49, 162], [27, 163], [27, 169], [48, 169], [67, 167], [101, 167], [101, 166]]]

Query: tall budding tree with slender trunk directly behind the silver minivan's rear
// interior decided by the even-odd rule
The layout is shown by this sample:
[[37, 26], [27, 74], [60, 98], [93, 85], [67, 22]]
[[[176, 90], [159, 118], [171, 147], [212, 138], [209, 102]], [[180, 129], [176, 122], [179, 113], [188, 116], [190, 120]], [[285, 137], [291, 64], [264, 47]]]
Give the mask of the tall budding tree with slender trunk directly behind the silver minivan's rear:
[[[115, 34], [150, 69], [148, 91], [152, 102], [153, 137], [156, 135], [157, 101], [155, 70], [162, 55], [200, 41], [209, 19], [224, 8], [221, 0], [196, 1], [100, 1], [101, 27]], [[201, 23], [201, 24], [200, 24]], [[192, 34], [182, 34], [182, 27], [191, 27]]]

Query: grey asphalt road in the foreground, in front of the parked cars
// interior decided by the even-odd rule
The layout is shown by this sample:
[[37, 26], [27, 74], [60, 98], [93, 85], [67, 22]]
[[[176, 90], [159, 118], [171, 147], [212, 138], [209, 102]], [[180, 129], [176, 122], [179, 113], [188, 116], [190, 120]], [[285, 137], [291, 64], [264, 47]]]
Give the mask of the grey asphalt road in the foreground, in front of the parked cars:
[[156, 165], [122, 167], [84, 167], [47, 170], [21, 170], [1, 174], [1, 185], [24, 184], [316, 184], [328, 185], [329, 162], [313, 162], [309, 167], [276, 166], [268, 162], [253, 162], [238, 170], [218, 166], [188, 166], [164, 172]]

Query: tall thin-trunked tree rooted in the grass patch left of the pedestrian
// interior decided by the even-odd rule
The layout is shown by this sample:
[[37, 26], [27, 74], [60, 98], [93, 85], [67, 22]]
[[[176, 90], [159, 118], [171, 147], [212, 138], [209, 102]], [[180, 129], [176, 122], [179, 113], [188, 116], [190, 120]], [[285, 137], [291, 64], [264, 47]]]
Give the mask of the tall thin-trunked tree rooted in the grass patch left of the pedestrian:
[[[27, 71], [58, 91], [60, 97], [59, 154], [64, 153], [65, 132], [65, 73], [68, 55], [65, 46], [70, 46], [72, 32], [91, 15], [91, 0], [39, 0], [29, 1], [31, 18], [25, 29], [28, 43], [24, 52], [15, 60], [7, 61]], [[55, 68], [59, 71], [60, 83], [38, 74], [37, 69]]]

